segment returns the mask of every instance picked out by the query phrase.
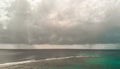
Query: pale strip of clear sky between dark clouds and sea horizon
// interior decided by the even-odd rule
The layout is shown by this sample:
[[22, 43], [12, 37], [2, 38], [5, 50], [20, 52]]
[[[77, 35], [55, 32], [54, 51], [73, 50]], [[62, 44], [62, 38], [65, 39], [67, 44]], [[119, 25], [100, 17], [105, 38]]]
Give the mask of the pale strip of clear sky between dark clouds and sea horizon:
[[81, 44], [81, 45], [26, 45], [26, 44], [0, 44], [0, 49], [120, 49], [120, 44]]

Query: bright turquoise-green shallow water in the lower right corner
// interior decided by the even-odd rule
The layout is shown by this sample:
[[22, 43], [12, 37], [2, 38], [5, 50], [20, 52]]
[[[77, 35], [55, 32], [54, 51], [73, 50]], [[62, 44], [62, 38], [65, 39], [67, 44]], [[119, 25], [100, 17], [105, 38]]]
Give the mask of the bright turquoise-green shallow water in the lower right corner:
[[120, 59], [115, 57], [89, 58], [85, 62], [73, 62], [71, 66], [43, 67], [43, 69], [120, 69]]

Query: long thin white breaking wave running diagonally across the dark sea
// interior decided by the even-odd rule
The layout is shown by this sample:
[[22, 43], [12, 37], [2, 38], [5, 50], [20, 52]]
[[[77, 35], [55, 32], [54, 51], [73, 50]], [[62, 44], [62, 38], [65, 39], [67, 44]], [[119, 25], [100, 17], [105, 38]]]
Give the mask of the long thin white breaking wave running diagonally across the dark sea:
[[33, 63], [33, 62], [40, 62], [40, 61], [62, 60], [62, 59], [80, 58], [80, 57], [99, 57], [99, 56], [69, 56], [69, 57], [59, 57], [59, 58], [47, 58], [47, 59], [42, 59], [42, 60], [33, 59], [33, 60], [26, 60], [26, 61], [19, 61], [19, 62], [3, 63], [3, 64], [0, 64], [0, 67], [19, 65], [19, 64], [25, 64], [25, 63]]

